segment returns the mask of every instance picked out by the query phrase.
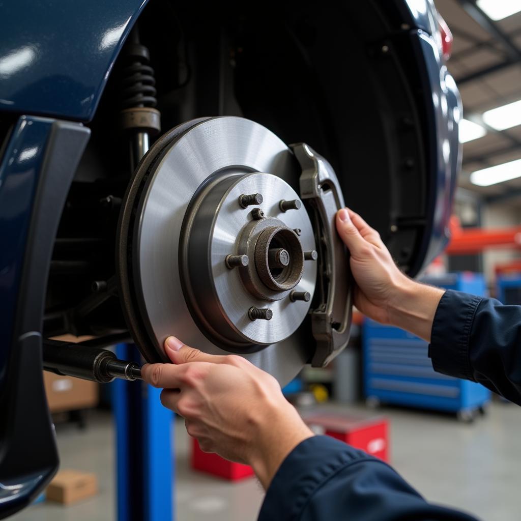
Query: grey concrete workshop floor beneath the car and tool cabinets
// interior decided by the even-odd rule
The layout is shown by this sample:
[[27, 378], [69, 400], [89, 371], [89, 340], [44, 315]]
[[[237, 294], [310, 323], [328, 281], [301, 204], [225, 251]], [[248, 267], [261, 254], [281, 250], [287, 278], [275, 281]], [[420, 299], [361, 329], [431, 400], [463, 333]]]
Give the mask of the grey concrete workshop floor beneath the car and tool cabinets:
[[[345, 407], [359, 412], [362, 407]], [[473, 425], [453, 417], [398, 408], [379, 413], [391, 420], [393, 466], [432, 502], [453, 505], [481, 519], [518, 521], [521, 490], [521, 409], [494, 403]], [[114, 519], [114, 439], [108, 413], [95, 413], [89, 428], [58, 427], [62, 468], [96, 473], [100, 493], [73, 506], [33, 505], [16, 521], [95, 521]], [[255, 519], [263, 491], [255, 479], [229, 484], [191, 472], [189, 439], [176, 422], [177, 519]], [[165, 520], [166, 521], [166, 520]]]

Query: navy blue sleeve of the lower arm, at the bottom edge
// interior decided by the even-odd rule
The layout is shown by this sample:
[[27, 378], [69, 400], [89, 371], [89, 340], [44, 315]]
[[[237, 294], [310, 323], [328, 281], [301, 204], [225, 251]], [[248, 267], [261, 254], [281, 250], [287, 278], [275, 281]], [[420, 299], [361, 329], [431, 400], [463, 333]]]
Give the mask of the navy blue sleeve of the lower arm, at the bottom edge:
[[427, 503], [389, 465], [328, 436], [308, 438], [280, 466], [259, 521], [475, 521]]

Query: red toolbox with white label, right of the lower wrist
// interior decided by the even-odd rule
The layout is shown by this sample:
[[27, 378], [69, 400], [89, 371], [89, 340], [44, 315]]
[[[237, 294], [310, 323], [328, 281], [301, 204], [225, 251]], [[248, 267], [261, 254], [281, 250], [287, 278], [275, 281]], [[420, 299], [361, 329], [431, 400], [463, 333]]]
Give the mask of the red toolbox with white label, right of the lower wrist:
[[349, 443], [356, 449], [389, 463], [389, 421], [379, 416], [364, 418], [335, 413], [305, 416], [304, 421], [314, 432]]

